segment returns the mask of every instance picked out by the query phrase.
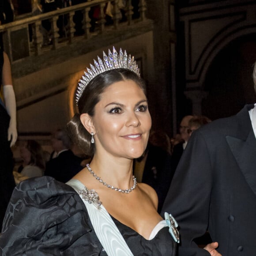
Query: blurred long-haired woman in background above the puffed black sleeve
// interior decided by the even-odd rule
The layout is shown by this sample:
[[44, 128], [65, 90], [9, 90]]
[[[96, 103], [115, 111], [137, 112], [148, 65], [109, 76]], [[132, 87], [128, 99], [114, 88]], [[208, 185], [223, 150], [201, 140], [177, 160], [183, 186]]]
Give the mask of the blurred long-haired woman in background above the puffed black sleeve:
[[[24, 177], [40, 177], [44, 175], [45, 160], [41, 145], [35, 140], [27, 140], [20, 147], [20, 157], [23, 164], [19, 166], [18, 172], [14, 172], [15, 182], [18, 184]], [[18, 175], [18, 173], [20, 173]]]

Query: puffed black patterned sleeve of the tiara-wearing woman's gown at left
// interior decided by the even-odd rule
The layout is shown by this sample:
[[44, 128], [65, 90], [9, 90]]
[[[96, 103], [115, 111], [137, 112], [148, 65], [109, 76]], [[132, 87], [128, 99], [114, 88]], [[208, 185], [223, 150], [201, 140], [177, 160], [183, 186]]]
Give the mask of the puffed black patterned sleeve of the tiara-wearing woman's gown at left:
[[98, 255], [96, 244], [86, 207], [72, 187], [47, 176], [15, 187], [0, 235], [0, 255]]

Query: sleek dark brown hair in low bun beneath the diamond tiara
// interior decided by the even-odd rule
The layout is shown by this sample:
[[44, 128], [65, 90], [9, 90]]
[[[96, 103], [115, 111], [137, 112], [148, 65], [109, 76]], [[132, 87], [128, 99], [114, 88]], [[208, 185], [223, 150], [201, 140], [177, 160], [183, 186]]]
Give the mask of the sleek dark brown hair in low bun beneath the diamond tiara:
[[69, 135], [73, 142], [78, 145], [85, 154], [93, 156], [94, 144], [90, 142], [91, 135], [81, 123], [80, 115], [88, 113], [93, 117], [95, 105], [100, 101], [101, 94], [104, 90], [113, 83], [125, 80], [132, 80], [146, 94], [146, 86], [143, 79], [136, 75], [136, 73], [125, 68], [105, 71], [94, 77], [94, 79], [92, 79], [85, 87], [83, 94], [78, 101], [79, 113], [76, 113], [67, 125]]

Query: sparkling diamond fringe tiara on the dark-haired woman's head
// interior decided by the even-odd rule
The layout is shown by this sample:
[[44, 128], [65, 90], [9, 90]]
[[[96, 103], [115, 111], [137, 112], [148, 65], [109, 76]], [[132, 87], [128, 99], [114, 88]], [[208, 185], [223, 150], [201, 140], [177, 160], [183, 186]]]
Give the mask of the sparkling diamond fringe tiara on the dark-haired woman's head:
[[115, 47], [113, 46], [113, 53], [109, 50], [109, 56], [103, 51], [103, 60], [98, 56], [98, 62], [94, 60], [94, 66], [90, 64], [90, 69], [87, 68], [87, 72], [84, 72], [84, 75], [79, 80], [78, 87], [76, 90], [75, 103], [78, 104], [79, 99], [83, 94], [83, 90], [87, 87], [87, 84], [94, 79], [97, 75], [116, 68], [126, 68], [137, 75], [139, 74], [139, 68], [134, 60], [134, 57], [129, 54], [127, 55], [126, 51], [124, 53], [120, 49], [119, 54], [117, 53]]

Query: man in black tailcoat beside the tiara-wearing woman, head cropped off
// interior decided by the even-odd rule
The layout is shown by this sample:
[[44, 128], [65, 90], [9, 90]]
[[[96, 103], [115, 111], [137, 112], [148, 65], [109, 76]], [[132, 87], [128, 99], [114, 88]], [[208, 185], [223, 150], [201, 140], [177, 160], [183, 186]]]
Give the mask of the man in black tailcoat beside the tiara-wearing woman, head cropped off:
[[[256, 89], [256, 64], [253, 80]], [[162, 215], [180, 226], [179, 256], [208, 256], [193, 241], [207, 230], [222, 256], [256, 255], [256, 106], [193, 132]]]

